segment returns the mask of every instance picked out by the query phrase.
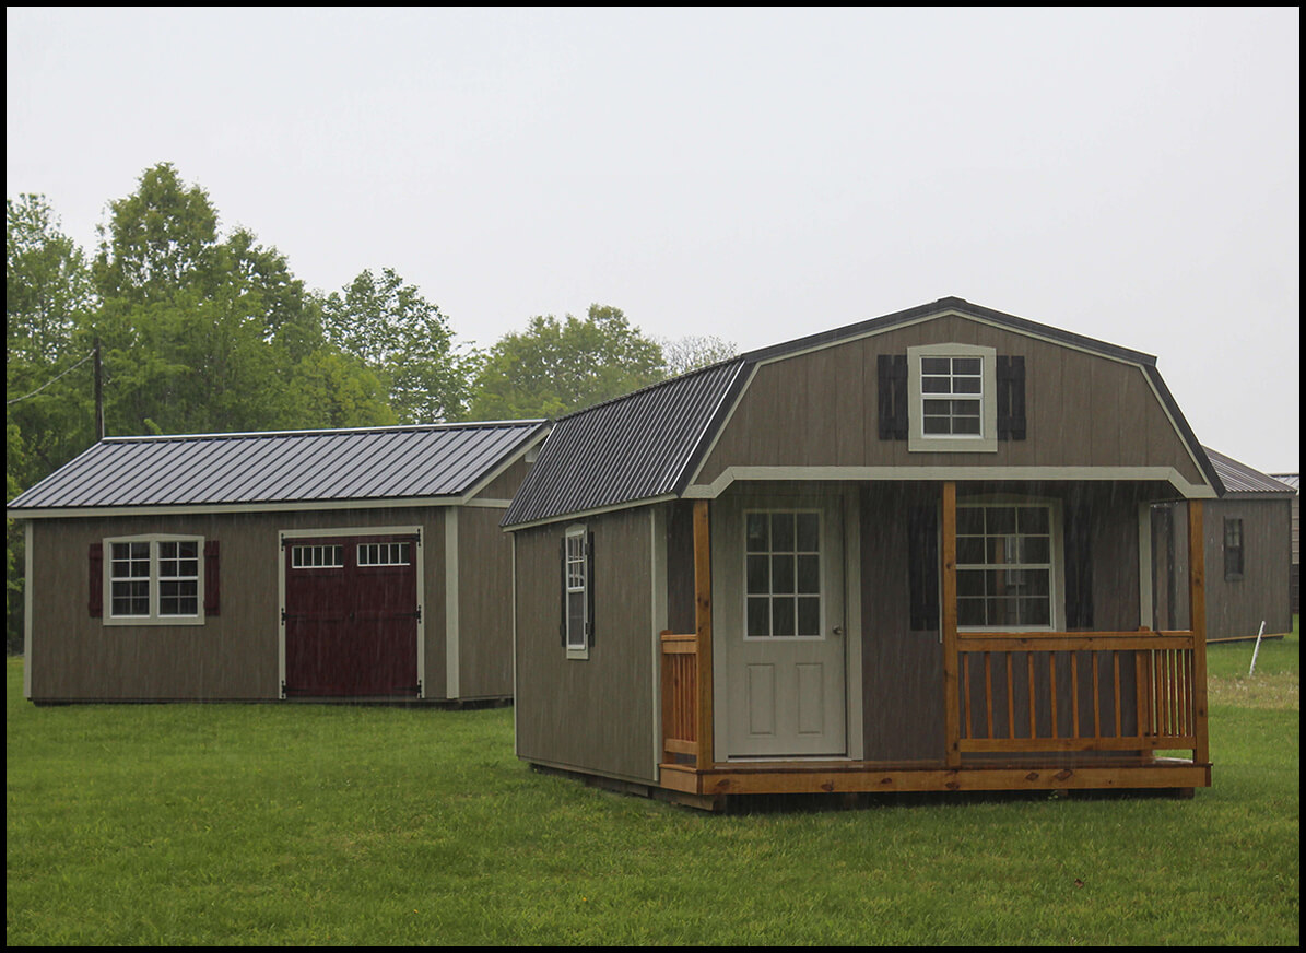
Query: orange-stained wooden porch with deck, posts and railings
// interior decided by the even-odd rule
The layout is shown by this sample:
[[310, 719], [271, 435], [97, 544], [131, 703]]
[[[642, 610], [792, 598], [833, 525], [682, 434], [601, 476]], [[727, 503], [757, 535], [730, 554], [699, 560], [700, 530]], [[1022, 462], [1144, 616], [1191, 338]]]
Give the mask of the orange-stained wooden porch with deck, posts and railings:
[[[691, 798], [1209, 787], [1202, 560], [1190, 564], [1191, 631], [959, 632], [953, 483], [943, 488], [942, 522], [940, 757], [718, 762], [708, 504], [696, 503], [696, 632], [662, 633], [661, 787]], [[1188, 507], [1188, 539], [1203, 539], [1198, 501]]]

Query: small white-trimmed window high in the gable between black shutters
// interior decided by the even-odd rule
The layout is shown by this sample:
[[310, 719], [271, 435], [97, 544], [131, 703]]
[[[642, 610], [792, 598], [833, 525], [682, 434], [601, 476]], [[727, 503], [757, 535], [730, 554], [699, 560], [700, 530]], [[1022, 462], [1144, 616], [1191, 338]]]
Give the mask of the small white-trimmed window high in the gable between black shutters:
[[998, 354], [977, 345], [908, 349], [908, 450], [998, 449]]

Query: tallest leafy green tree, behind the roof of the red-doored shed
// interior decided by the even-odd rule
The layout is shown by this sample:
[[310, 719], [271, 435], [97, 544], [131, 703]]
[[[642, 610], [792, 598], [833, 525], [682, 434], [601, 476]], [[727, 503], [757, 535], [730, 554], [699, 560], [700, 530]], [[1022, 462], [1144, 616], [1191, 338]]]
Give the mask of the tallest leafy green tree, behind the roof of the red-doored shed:
[[[94, 262], [108, 432], [393, 422], [360, 363], [323, 354], [334, 347], [321, 304], [286, 258], [247, 230], [223, 236], [218, 223], [208, 193], [168, 163], [110, 204]], [[308, 384], [312, 399], [299, 389]], [[329, 386], [345, 393], [337, 399]]]

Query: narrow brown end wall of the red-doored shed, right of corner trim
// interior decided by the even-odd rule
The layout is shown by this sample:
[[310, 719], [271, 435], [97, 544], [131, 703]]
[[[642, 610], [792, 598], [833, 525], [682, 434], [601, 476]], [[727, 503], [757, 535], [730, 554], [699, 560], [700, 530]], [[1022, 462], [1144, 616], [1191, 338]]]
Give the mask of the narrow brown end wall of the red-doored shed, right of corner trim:
[[458, 510], [458, 697], [512, 697], [512, 540], [502, 509]]

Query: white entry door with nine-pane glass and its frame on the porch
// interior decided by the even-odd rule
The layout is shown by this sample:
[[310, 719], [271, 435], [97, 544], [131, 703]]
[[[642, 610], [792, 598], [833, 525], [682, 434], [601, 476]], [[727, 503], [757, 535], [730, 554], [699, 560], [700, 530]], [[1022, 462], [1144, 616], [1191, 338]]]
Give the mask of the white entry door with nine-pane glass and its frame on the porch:
[[716, 683], [725, 691], [726, 756], [845, 755], [840, 499], [743, 497], [714, 509], [713, 642], [724, 649]]

